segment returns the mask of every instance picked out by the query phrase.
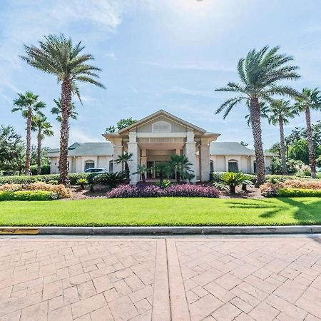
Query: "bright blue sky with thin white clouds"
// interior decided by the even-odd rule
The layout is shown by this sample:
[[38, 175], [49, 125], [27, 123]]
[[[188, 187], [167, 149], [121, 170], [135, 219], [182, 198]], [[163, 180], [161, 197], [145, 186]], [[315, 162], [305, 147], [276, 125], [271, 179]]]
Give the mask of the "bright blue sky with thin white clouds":
[[[268, 4], [267, 4], [268, 2]], [[11, 113], [17, 92], [39, 94], [48, 108], [58, 146], [59, 126], [50, 114], [60, 87], [19, 58], [23, 44], [63, 33], [83, 41], [103, 69], [106, 90], [81, 85], [83, 106], [71, 121], [70, 141], [103, 141], [101, 133], [120, 118], [142, 118], [158, 109], [221, 133], [219, 141], [253, 144], [245, 106], [223, 121], [214, 111], [230, 95], [214, 88], [237, 81], [235, 66], [250, 49], [280, 45], [294, 56], [302, 87], [321, 83], [320, 0], [2, 0], [0, 9], [0, 124], [25, 135], [24, 119]], [[312, 113], [312, 122], [321, 119]], [[295, 118], [286, 133], [304, 126]], [[278, 141], [278, 129], [263, 121], [264, 147]], [[34, 140], [34, 143], [36, 141]]]

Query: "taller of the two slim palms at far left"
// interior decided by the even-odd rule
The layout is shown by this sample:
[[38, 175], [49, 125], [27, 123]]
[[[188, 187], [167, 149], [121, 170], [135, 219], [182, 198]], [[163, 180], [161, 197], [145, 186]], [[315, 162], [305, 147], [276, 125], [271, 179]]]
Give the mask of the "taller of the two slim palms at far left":
[[22, 116], [26, 118], [26, 175], [30, 175], [30, 159], [31, 159], [31, 121], [35, 113], [46, 107], [43, 101], [39, 101], [38, 95], [26, 91], [26, 93], [18, 93], [19, 98], [14, 100], [14, 108], [12, 112], [21, 111]]

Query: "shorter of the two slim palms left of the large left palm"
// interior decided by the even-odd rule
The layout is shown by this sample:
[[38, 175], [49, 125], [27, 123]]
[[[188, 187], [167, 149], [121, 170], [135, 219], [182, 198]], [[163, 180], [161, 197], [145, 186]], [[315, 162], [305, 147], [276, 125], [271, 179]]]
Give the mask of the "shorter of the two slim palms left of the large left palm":
[[37, 132], [37, 174], [41, 174], [41, 143], [45, 136], [54, 136], [54, 131], [51, 129], [51, 123], [47, 121], [46, 116], [38, 113], [32, 118], [31, 131]]

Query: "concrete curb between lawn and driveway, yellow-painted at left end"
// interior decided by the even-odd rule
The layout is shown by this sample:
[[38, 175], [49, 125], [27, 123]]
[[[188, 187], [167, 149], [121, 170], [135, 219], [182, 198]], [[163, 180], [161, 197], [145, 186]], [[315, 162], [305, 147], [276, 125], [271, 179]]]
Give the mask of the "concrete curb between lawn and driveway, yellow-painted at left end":
[[0, 235], [251, 235], [321, 233], [321, 225], [0, 227]]

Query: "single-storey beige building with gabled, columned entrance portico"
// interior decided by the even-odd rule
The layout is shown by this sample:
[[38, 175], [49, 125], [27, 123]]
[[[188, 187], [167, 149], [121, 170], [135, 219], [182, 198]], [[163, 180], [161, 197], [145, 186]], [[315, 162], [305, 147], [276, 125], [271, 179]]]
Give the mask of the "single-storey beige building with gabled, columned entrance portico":
[[[124, 152], [133, 154], [128, 163], [131, 183], [140, 180], [138, 165], [148, 168], [158, 162], [168, 161], [170, 155], [183, 154], [192, 163], [195, 180], [207, 181], [210, 171], [242, 171], [255, 173], [255, 153], [236, 142], [216, 142], [219, 133], [210, 133], [180, 119], [167, 111], [141, 119], [117, 133], [103, 134], [106, 143], [74, 143], [69, 147], [68, 163], [71, 173], [87, 168], [106, 168], [110, 172], [123, 170], [123, 165], [113, 162]], [[51, 173], [58, 173], [59, 150], [48, 151]], [[265, 153], [265, 166], [270, 171], [272, 153]], [[157, 173], [148, 173], [148, 178], [157, 178]]]

